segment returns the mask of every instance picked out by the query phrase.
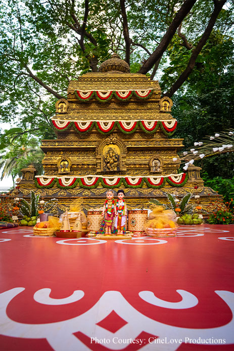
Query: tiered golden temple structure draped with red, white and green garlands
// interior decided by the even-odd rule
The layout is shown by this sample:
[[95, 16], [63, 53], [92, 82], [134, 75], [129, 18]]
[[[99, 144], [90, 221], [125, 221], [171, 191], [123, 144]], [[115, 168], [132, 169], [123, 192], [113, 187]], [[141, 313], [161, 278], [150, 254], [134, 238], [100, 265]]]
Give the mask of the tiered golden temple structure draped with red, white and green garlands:
[[84, 208], [99, 208], [108, 188], [124, 189], [129, 209], [146, 208], [152, 197], [165, 202], [165, 192], [193, 193], [194, 186], [204, 208], [217, 198], [199, 167], [179, 172], [183, 140], [171, 138], [177, 125], [171, 99], [161, 97], [158, 81], [130, 73], [118, 55], [70, 81], [67, 99], [55, 107], [57, 139], [42, 140], [44, 175], [23, 177], [25, 197], [32, 189], [56, 197], [61, 211], [79, 196]]

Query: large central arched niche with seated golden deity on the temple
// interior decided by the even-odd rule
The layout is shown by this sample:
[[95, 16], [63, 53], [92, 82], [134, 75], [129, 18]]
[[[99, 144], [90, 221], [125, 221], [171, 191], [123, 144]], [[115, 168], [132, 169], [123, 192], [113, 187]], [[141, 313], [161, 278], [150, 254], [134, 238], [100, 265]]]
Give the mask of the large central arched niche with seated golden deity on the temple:
[[126, 146], [115, 136], [109, 136], [96, 148], [97, 172], [126, 171]]

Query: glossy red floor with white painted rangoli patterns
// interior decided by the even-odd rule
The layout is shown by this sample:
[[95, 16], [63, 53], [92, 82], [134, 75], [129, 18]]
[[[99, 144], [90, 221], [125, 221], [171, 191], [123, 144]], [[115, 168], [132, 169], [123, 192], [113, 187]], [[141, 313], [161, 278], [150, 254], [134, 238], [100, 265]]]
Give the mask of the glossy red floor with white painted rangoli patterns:
[[234, 225], [176, 237], [0, 231], [0, 349], [234, 350]]

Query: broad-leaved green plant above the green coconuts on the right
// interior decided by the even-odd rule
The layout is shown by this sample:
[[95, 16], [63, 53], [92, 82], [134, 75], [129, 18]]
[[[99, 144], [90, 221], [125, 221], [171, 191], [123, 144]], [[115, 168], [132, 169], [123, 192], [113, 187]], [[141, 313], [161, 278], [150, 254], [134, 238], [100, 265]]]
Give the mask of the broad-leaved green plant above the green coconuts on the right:
[[[163, 204], [155, 198], [150, 198], [149, 202], [154, 205], [164, 206], [166, 210], [173, 210], [175, 212], [179, 212], [179, 214], [192, 214], [194, 212], [194, 207], [192, 204], [189, 204], [191, 197], [193, 196], [191, 193], [184, 195], [179, 202], [175, 195], [170, 193], [166, 193], [169, 205]], [[176, 211], [179, 209], [180, 211]]]

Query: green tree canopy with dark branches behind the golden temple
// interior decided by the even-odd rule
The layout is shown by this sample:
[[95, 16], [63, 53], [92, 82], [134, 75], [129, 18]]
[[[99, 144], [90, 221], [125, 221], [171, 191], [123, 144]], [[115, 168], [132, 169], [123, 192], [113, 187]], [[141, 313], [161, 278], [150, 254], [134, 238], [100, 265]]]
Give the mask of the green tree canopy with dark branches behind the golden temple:
[[0, 10], [0, 115], [14, 127], [0, 149], [26, 133], [55, 136], [50, 118], [69, 80], [113, 52], [131, 72], [160, 77], [187, 144], [208, 125], [233, 126], [233, 2], [3, 0]]

